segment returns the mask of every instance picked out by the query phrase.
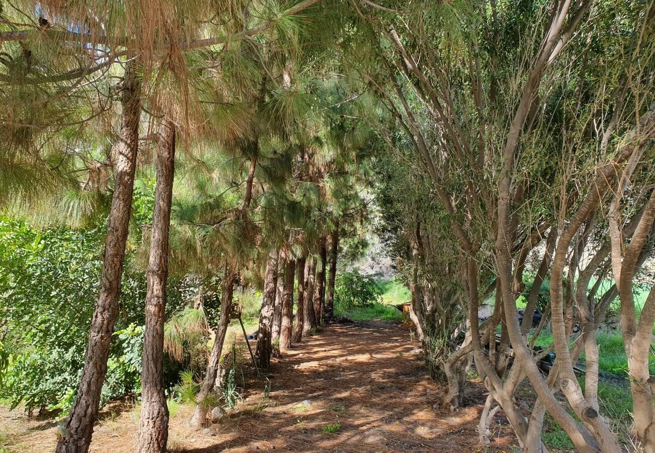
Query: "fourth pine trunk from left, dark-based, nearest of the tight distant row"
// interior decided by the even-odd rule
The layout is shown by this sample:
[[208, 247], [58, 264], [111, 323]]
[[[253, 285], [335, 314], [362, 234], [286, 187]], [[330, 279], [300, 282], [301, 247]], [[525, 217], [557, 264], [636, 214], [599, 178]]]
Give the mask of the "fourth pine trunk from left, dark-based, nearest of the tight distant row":
[[273, 312], [275, 293], [278, 284], [278, 251], [269, 252], [264, 274], [264, 292], [261, 296], [261, 314], [259, 316], [259, 336], [255, 358], [257, 366], [266, 369], [271, 365], [271, 337], [273, 327]]

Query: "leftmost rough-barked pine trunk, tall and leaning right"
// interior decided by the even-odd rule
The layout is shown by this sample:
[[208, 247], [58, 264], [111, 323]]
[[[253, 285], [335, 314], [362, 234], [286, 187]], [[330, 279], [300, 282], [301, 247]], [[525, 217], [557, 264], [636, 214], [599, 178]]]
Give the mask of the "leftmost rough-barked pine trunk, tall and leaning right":
[[109, 211], [98, 304], [91, 321], [82, 380], [77, 390], [75, 405], [62, 428], [62, 437], [56, 447], [57, 453], [88, 451], [107, 373], [109, 343], [121, 297], [122, 268], [132, 212], [134, 170], [139, 141], [141, 82], [134, 64], [128, 64], [122, 86], [121, 140], [113, 149], [113, 154], [117, 156], [116, 185]]

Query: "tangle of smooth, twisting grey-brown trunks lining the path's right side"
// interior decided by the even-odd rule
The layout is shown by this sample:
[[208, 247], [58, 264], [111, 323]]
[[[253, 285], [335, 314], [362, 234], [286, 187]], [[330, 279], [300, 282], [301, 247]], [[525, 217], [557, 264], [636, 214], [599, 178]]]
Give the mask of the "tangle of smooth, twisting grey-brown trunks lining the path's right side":
[[[434, 270], [426, 266], [434, 258], [426, 252], [422, 237], [429, 230], [422, 228], [419, 221], [415, 223], [415, 230], [407, 234], [411, 247], [405, 255], [406, 265], [413, 268], [411, 316], [417, 323], [428, 359], [436, 357], [434, 350], [438, 344], [447, 345], [442, 351], [449, 353], [439, 357], [438, 363], [449, 386], [443, 401], [445, 406], [453, 409], [460, 406], [466, 377], [466, 372], [462, 371], [474, 361], [489, 391], [479, 422], [482, 443], [489, 443], [491, 420], [502, 410], [524, 451], [546, 452], [548, 449], [540, 435], [544, 415], [548, 412], [578, 451], [618, 453], [622, 451], [618, 435], [599, 408], [599, 352], [595, 340], [608, 306], [618, 298], [634, 401], [633, 430], [641, 448], [645, 452], [655, 452], [655, 380], [648, 371], [648, 351], [655, 321], [655, 289], [650, 290], [640, 316], [635, 314], [633, 300], [635, 274], [647, 257], [652, 256], [655, 242], [655, 191], [652, 186], [640, 187], [633, 178], [640, 168], [645, 168], [645, 150], [650, 149], [655, 139], [655, 104], [637, 115], [631, 130], [627, 130], [616, 150], [609, 153], [608, 162], [584, 170], [588, 172], [588, 190], [561, 196], [555, 218], [536, 217], [534, 223], [523, 223], [524, 219], [517, 214], [528, 196], [540, 196], [529, 193], [531, 187], [527, 181], [522, 181], [521, 175], [515, 173], [519, 166], [519, 137], [531, 132], [533, 127], [531, 111], [540, 101], [539, 87], [544, 73], [571, 39], [588, 9], [589, 3], [582, 2], [576, 9], [569, 3], [561, 3], [549, 10], [550, 22], [540, 50], [527, 67], [525, 82], [512, 107], [512, 122], [500, 155], [500, 171], [493, 176], [486, 173], [486, 156], [490, 151], [485, 141], [483, 115], [474, 134], [479, 146], [469, 147], [462, 139], [462, 129], [468, 125], [458, 124], [457, 114], [452, 114], [450, 103], [454, 101], [449, 98], [447, 89], [439, 85], [441, 79], [434, 77], [437, 82], [433, 84], [430, 73], [414, 60], [411, 50], [405, 48], [396, 31], [392, 29], [389, 33], [400, 60], [394, 66], [387, 66], [396, 88], [396, 99], [403, 109], [402, 113], [394, 111], [394, 114], [411, 137], [427, 170], [426, 178], [448, 215], [447, 222], [461, 251], [457, 266], [442, 268], [443, 274], [435, 275]], [[651, 8], [651, 14], [652, 11]], [[472, 90], [479, 111], [483, 111], [481, 93], [477, 91], [481, 90], [481, 81], [475, 79], [474, 73], [476, 63], [479, 62], [471, 63], [472, 77], [479, 85], [474, 83]], [[455, 171], [441, 170], [435, 154], [428, 149], [428, 140], [415, 120], [413, 106], [396, 82], [396, 71], [413, 83], [421, 105], [432, 115], [455, 150], [452, 152], [445, 147], [443, 151], [444, 154], [453, 153], [448, 165]], [[622, 108], [621, 101], [618, 96], [608, 101], [615, 116], [620, 115], [617, 112]], [[451, 109], [450, 117], [443, 113], [444, 108]], [[615, 126], [615, 121], [609, 121], [607, 130], [596, 135], [597, 149], [605, 151], [606, 137], [616, 132]], [[466, 196], [456, 198], [445, 187], [457, 181], [462, 173], [469, 175], [470, 180], [465, 186]], [[630, 200], [626, 193], [634, 194], [639, 202]], [[494, 241], [478, 234], [476, 228], [471, 227], [476, 221], [471, 219], [491, 225]], [[599, 237], [604, 239], [599, 240]], [[485, 241], [485, 245], [491, 247], [483, 249], [481, 244]], [[523, 321], [519, 323], [517, 299], [524, 293], [523, 276], [528, 257], [540, 264], [527, 295]], [[532, 331], [533, 314], [546, 276], [550, 277], [550, 300], [542, 321]], [[596, 283], [591, 284], [592, 276], [597, 278]], [[599, 283], [612, 279], [610, 287]], [[447, 282], [455, 280], [462, 283], [453, 290]], [[480, 323], [480, 301], [493, 291], [493, 314]], [[457, 327], [452, 325], [456, 312], [466, 317], [459, 329], [465, 330], [466, 336], [458, 348], [455, 348], [457, 342], [452, 335]], [[547, 319], [553, 344], [535, 349], [534, 340]], [[577, 332], [576, 325], [580, 326]], [[499, 326], [500, 333], [496, 335]], [[556, 353], [556, 359], [545, 374], [538, 363], [551, 352]], [[574, 371], [582, 353], [586, 357], [584, 388]], [[514, 398], [517, 386], [526, 379], [537, 395], [529, 416], [521, 412], [526, 409], [519, 408]], [[574, 416], [555, 397], [557, 391], [564, 395]]]

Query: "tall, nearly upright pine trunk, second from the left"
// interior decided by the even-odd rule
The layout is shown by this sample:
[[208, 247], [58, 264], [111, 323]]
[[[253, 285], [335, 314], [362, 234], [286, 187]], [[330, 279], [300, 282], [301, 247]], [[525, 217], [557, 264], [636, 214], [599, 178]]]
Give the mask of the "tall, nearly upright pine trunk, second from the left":
[[141, 429], [137, 452], [165, 453], [168, 406], [164, 396], [164, 314], [168, 280], [168, 238], [175, 172], [175, 124], [162, 120], [157, 145], [157, 186], [145, 296]]

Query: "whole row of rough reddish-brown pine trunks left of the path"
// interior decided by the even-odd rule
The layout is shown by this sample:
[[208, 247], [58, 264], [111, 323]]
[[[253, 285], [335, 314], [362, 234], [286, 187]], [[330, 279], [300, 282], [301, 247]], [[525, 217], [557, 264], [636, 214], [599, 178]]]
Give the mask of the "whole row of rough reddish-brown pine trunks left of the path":
[[[116, 182], [103, 251], [98, 304], [90, 327], [84, 371], [77, 398], [61, 428], [61, 436], [56, 446], [57, 453], [88, 452], [107, 372], [111, 336], [119, 311], [122, 268], [128, 239], [139, 144], [141, 79], [136, 61], [132, 60], [128, 63], [121, 88], [120, 140], [112, 150]], [[168, 439], [168, 407], [162, 368], [176, 131], [174, 118], [164, 114], [158, 132], [157, 185], [147, 267], [141, 421], [136, 447], [140, 453], [164, 453]], [[242, 206], [244, 215], [247, 215], [253, 198], [252, 186], [256, 166], [257, 159], [252, 158]], [[330, 238], [329, 277], [327, 278], [325, 236], [322, 236], [317, 244], [307, 244], [304, 254], [300, 257], [294, 257], [288, 245], [272, 247], [269, 251], [265, 264], [259, 338], [255, 356], [260, 369], [269, 367], [272, 356], [288, 350], [293, 342], [300, 342], [303, 335], [310, 335], [312, 329], [323, 323], [326, 316], [333, 312], [339, 249], [338, 227]], [[293, 290], [296, 274], [298, 298], [294, 323]], [[221, 386], [219, 363], [232, 316], [234, 287], [238, 281], [237, 264], [226, 258], [221, 281], [220, 316], [213, 329], [214, 344], [209, 354], [192, 418], [192, 423], [196, 426], [203, 426], [208, 421], [208, 413], [213, 408], [208, 401], [216, 401], [209, 397]]]

